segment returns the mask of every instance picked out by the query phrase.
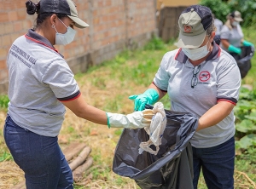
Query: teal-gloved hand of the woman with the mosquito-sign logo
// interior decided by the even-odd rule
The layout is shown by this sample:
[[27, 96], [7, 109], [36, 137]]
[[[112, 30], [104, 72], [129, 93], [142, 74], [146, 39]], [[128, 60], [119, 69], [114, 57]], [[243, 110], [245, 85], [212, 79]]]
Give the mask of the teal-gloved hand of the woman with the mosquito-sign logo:
[[134, 111], [142, 111], [145, 105], [153, 105], [159, 99], [159, 94], [155, 89], [148, 89], [143, 94], [135, 94], [129, 96], [130, 100], [134, 100]]

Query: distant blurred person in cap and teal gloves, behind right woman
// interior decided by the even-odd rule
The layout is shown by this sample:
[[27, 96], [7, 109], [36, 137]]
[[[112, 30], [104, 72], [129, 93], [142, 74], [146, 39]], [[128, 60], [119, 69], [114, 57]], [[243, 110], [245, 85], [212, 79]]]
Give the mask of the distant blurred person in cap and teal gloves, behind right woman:
[[242, 45], [253, 46], [253, 43], [243, 39], [241, 21], [241, 13], [236, 10], [227, 15], [227, 20], [220, 31], [220, 47], [229, 53], [241, 54]]

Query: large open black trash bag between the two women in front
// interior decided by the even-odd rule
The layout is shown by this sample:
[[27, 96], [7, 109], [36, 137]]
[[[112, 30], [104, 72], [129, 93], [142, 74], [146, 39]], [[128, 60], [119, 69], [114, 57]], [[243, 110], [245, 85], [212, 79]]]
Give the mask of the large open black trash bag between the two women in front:
[[[198, 119], [190, 113], [165, 111], [167, 123], [158, 154], [138, 153], [140, 143], [149, 139], [144, 129], [124, 129], [115, 149], [113, 172], [130, 177], [143, 189], [192, 189], [193, 155], [189, 140], [195, 134]], [[155, 146], [150, 147], [155, 150]]]

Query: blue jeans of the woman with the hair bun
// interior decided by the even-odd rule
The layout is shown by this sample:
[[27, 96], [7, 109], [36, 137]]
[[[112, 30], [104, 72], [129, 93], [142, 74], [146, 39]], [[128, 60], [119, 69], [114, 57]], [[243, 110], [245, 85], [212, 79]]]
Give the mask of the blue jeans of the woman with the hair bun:
[[73, 188], [73, 175], [57, 137], [37, 135], [7, 116], [4, 140], [15, 163], [25, 172], [27, 189]]

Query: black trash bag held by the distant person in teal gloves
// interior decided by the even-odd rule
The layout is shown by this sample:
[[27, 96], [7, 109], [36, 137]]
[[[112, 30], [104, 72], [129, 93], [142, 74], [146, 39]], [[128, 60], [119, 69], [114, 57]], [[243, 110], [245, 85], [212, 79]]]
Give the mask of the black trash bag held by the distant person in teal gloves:
[[247, 72], [252, 67], [251, 59], [253, 58], [254, 54], [254, 47], [253, 46], [242, 46], [241, 47], [241, 54], [230, 53], [236, 60], [237, 66], [239, 67], [241, 78], [246, 77]]

